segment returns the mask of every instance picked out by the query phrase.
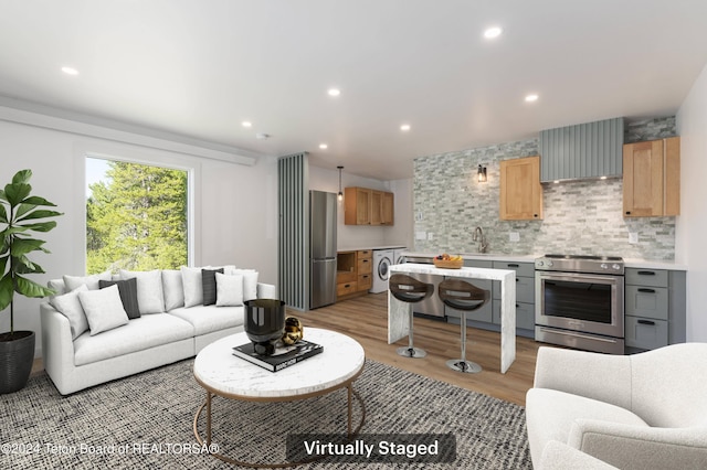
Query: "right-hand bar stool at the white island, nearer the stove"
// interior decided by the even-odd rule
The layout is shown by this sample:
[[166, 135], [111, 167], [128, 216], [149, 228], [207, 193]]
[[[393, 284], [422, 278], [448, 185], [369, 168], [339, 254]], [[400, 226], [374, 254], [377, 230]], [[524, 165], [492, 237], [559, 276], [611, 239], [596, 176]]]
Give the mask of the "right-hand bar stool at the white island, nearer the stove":
[[466, 312], [484, 307], [490, 298], [488, 290], [481, 289], [462, 279], [445, 279], [440, 282], [439, 296], [445, 306], [462, 312], [462, 359], [451, 359], [446, 365], [458, 372], [482, 372], [481, 365], [466, 360]]

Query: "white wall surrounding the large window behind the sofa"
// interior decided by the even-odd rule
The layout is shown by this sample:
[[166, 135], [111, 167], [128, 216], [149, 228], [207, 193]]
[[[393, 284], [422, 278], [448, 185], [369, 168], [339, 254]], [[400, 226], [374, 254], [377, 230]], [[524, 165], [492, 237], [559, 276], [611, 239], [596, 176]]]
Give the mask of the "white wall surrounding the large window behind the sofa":
[[[32, 254], [45, 275], [32, 277], [45, 284], [64, 274], [85, 273], [84, 152], [96, 151], [137, 158], [145, 162], [171, 162], [196, 169], [196, 236], [193, 265], [235, 264], [260, 271], [265, 282], [277, 281], [277, 201], [275, 159], [253, 167], [156, 150], [2, 120], [0, 116], [0, 184], [22, 169], [33, 172], [33, 193], [57, 204], [64, 215], [57, 227], [41, 234], [50, 255]], [[38, 333], [41, 355], [39, 299], [15, 301], [15, 329]], [[0, 313], [0, 331], [9, 330], [9, 310]]]

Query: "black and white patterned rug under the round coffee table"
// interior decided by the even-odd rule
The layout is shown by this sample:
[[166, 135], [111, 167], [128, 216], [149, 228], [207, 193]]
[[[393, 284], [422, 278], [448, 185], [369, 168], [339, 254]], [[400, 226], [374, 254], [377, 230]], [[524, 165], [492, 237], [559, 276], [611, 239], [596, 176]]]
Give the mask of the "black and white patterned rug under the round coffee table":
[[[182, 361], [67, 397], [45, 374], [32, 377], [24, 389], [0, 396], [0, 468], [233, 468], [202, 452], [194, 439], [192, 421], [205, 392], [193, 380], [192, 364]], [[523, 407], [370, 360], [355, 388], [366, 405], [363, 440], [397, 442], [399, 435], [414, 435], [428, 442], [428, 435], [451, 432], [455, 461], [329, 457], [299, 468], [531, 468]], [[221, 452], [275, 463], [285, 459], [289, 432], [346, 431], [346, 391], [282, 404], [217, 397], [213, 417]], [[355, 424], [360, 417], [355, 404]], [[203, 417], [199, 428], [203, 435]]]

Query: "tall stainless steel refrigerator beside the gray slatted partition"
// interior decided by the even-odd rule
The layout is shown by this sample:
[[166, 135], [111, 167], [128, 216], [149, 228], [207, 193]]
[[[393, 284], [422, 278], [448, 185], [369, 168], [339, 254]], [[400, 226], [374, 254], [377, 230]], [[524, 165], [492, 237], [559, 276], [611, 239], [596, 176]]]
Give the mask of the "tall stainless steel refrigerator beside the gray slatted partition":
[[309, 191], [309, 308], [336, 302], [335, 193]]

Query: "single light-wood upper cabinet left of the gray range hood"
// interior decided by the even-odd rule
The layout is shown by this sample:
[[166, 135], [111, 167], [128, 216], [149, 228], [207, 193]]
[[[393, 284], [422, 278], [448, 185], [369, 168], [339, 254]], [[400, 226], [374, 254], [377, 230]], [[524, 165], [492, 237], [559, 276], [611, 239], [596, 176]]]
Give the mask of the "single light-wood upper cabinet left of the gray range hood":
[[542, 218], [540, 157], [526, 157], [500, 162], [500, 220]]

